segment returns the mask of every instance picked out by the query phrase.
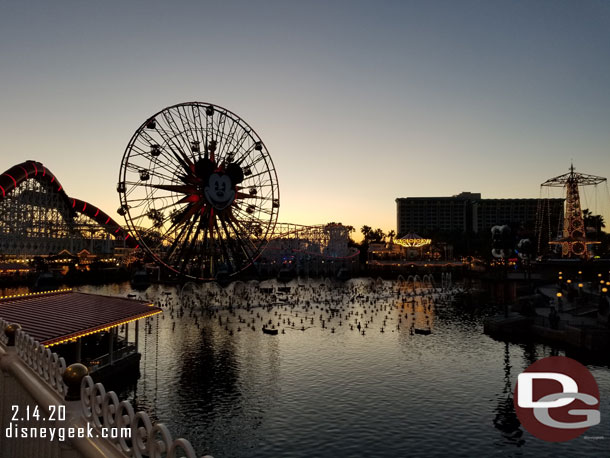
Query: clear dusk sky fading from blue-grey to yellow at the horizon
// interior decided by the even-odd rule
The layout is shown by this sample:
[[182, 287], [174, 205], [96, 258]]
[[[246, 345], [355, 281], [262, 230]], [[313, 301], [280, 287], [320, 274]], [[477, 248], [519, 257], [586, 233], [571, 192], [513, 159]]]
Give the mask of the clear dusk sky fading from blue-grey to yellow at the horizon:
[[[117, 221], [129, 139], [186, 101], [258, 132], [284, 222], [387, 231], [397, 197], [610, 176], [602, 0], [7, 0], [0, 69], [0, 169], [41, 161]], [[608, 187], [583, 206], [610, 221]]]

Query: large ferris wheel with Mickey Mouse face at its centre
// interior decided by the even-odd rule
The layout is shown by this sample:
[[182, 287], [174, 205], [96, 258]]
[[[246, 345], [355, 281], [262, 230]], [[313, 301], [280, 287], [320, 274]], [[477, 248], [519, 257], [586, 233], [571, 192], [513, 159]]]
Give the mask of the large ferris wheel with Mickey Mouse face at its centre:
[[181, 103], [148, 118], [123, 155], [117, 210], [140, 246], [173, 273], [210, 280], [251, 265], [280, 201], [264, 143], [239, 116]]

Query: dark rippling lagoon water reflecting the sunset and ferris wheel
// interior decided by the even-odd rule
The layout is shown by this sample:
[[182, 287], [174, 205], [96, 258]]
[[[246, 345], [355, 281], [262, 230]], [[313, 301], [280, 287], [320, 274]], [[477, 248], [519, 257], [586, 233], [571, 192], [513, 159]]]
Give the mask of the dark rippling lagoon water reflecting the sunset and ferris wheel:
[[[181, 295], [152, 286], [137, 294], [165, 311], [145, 326], [142, 377], [126, 394], [216, 458], [610, 456], [607, 365], [587, 364], [601, 423], [586, 437], [543, 442], [520, 427], [511, 394], [521, 371], [561, 349], [495, 341], [481, 314], [412, 292], [397, 299], [396, 282], [373, 283], [303, 281], [298, 300], [250, 311], [237, 302], [233, 314], [220, 288], [190, 285]], [[132, 292], [128, 284], [80, 290]], [[269, 319], [284, 333], [262, 333]]]

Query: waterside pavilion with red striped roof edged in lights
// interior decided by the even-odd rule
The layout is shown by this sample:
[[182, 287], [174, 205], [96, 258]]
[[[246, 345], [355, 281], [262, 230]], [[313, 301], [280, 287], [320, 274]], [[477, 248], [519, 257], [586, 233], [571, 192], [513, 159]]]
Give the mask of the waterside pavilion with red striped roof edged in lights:
[[84, 364], [96, 381], [118, 372], [137, 378], [139, 320], [161, 312], [149, 301], [69, 288], [0, 297], [0, 318], [53, 347], [66, 363]]

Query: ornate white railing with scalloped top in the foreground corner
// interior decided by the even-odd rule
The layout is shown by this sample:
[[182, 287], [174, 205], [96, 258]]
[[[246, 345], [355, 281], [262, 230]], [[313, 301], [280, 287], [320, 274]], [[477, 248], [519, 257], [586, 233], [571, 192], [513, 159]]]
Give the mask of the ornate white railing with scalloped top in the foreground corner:
[[[0, 336], [6, 337], [4, 330], [8, 324], [0, 319]], [[14, 333], [14, 346], [10, 340], [0, 341], [0, 457], [197, 458], [189, 441], [173, 439], [165, 425], [153, 424], [146, 412], [134, 411], [128, 401], [120, 401], [113, 391], [106, 392], [89, 375], [75, 380], [76, 365], [66, 371], [63, 358], [25, 332]], [[71, 368], [71, 376], [65, 378]], [[81, 369], [85, 370], [82, 366]], [[80, 399], [66, 400], [76, 398]], [[28, 408], [28, 417], [29, 412], [37, 409], [40, 418], [27, 421], [16, 418], [15, 409], [23, 413]], [[51, 412], [60, 409], [65, 409], [65, 418], [51, 418]], [[63, 441], [57, 436], [54, 440], [49, 436], [7, 437], [6, 428], [15, 426], [38, 431], [82, 428], [81, 431], [95, 433], [91, 437], [66, 435]], [[128, 430], [129, 437], [120, 437], [121, 434], [110, 434], [116, 437], [112, 439], [102, 437], [105, 428], [117, 428], [113, 430], [116, 432]]]

